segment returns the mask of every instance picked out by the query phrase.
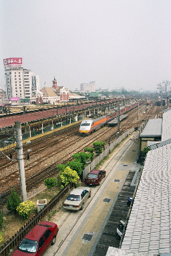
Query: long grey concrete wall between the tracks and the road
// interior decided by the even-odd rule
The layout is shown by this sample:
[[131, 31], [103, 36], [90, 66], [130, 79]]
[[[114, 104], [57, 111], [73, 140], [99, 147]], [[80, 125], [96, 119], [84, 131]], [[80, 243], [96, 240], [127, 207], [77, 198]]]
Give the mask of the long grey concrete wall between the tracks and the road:
[[98, 157], [96, 157], [91, 164], [89, 164], [88, 166], [85, 167], [85, 169], [83, 170], [83, 179], [85, 178], [85, 176], [91, 172], [92, 170], [94, 170], [94, 168], [100, 163], [100, 161], [102, 161], [102, 159], [104, 159], [104, 157], [106, 157], [106, 155], [108, 155], [108, 153], [110, 153], [110, 151], [112, 151], [112, 149], [114, 149], [114, 147], [120, 143], [120, 141], [122, 141], [123, 139], [125, 139], [126, 137], [128, 137], [128, 135], [130, 133], [132, 133], [134, 131], [134, 128], [129, 129], [128, 131], [126, 131], [125, 133], [123, 133], [120, 137], [118, 137], [118, 139], [116, 139], [116, 141], [113, 141], [110, 145], [108, 145], [108, 147], [106, 147], [106, 149], [100, 154], [98, 155]]

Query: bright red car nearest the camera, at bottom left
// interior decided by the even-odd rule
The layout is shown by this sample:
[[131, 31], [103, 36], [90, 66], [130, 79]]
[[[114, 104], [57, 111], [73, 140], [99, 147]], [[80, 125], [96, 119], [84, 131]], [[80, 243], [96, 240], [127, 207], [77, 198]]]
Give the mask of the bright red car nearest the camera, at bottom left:
[[49, 245], [54, 245], [58, 230], [53, 222], [40, 222], [24, 237], [12, 256], [43, 255]]

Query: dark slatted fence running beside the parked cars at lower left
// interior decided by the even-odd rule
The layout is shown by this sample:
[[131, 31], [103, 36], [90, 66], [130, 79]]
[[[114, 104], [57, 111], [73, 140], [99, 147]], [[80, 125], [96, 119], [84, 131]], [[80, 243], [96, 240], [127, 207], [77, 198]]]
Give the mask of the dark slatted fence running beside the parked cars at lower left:
[[48, 202], [47, 206], [45, 206], [41, 211], [37, 212], [37, 214], [33, 216], [33, 218], [31, 218], [23, 227], [21, 227], [21, 229], [19, 229], [19, 231], [17, 231], [17, 233], [11, 239], [9, 239], [9, 241], [7, 241], [5, 245], [1, 247], [0, 255], [1, 256], [9, 255], [9, 253], [12, 251], [11, 249], [14, 249], [15, 247], [17, 247], [17, 245], [21, 242], [23, 237], [25, 237], [25, 235], [27, 235], [27, 233], [29, 233], [29, 231], [31, 231], [31, 229], [33, 229], [33, 227], [35, 227], [35, 225], [37, 225], [37, 223], [43, 217], [45, 217], [47, 212], [53, 209], [55, 204], [57, 204], [57, 202], [59, 202], [59, 200], [61, 200], [61, 198], [63, 198], [63, 196], [69, 190], [71, 190], [73, 186], [74, 184], [69, 184], [68, 186], [63, 188], [63, 190], [61, 190], [53, 199], [51, 199], [50, 202]]

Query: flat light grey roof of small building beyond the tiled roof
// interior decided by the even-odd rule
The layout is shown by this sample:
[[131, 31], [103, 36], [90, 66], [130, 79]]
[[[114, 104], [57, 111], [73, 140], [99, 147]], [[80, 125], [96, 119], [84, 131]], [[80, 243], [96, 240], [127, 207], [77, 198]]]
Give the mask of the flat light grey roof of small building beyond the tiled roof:
[[140, 137], [161, 137], [162, 119], [150, 119], [140, 134]]

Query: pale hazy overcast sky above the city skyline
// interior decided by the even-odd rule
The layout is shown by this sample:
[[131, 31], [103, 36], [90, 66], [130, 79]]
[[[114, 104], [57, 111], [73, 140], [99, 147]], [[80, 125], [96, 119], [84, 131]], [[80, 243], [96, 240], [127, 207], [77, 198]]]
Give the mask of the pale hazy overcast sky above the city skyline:
[[171, 0], [0, 0], [3, 58], [23, 58], [40, 88], [155, 90], [171, 79]]

